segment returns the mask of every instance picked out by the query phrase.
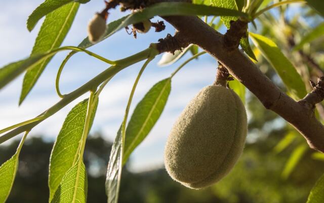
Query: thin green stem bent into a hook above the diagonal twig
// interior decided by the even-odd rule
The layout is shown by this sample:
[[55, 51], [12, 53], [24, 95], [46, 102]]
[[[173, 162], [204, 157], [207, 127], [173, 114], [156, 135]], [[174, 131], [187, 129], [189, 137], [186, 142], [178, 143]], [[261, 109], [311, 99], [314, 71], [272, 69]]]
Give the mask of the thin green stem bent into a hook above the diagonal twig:
[[[77, 51], [77, 50], [74, 50], [74, 51]], [[112, 60], [106, 59], [106, 58], [104, 58], [104, 57], [102, 57], [102, 56], [99, 56], [98, 54], [95, 54], [95, 53], [93, 53], [93, 52], [91, 52], [91, 51], [88, 51], [88, 50], [86, 50], [86, 49], [79, 48], [79, 51], [83, 51], [83, 52], [89, 54], [90, 56], [93, 56], [93, 57], [95, 57], [95, 58], [97, 58], [97, 59], [99, 59], [99, 60], [101, 60], [101, 61], [103, 61], [103, 62], [106, 62], [106, 63], [108, 63], [108, 64], [111, 64], [111, 65], [116, 64], [115, 61], [112, 61]], [[63, 95], [63, 94], [61, 93], [61, 91], [60, 91], [60, 85], [59, 85], [59, 83], [60, 83], [60, 78], [61, 78], [61, 73], [62, 73], [62, 71], [63, 71], [63, 68], [64, 68], [66, 62], [67, 62], [67, 61], [68, 61], [68, 60], [69, 60], [69, 59], [70, 59], [74, 54], [75, 54], [75, 52], [71, 52], [71, 53], [69, 53], [69, 54], [65, 57], [65, 59], [63, 60], [63, 62], [62, 62], [61, 65], [60, 65], [59, 70], [58, 70], [57, 75], [56, 75], [56, 80], [55, 80], [55, 89], [56, 89], [57, 94], [58, 94], [59, 97], [61, 97], [61, 98], [64, 97], [64, 95]]]

